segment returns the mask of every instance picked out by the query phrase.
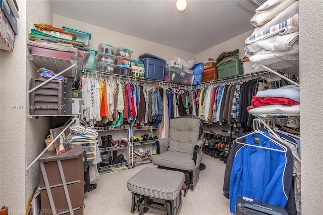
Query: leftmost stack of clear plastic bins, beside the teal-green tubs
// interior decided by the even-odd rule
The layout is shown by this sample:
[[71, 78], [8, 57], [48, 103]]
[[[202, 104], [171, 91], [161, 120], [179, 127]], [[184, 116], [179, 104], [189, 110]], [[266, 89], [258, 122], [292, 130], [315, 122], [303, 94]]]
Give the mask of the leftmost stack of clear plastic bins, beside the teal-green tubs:
[[99, 53], [97, 55], [97, 69], [100, 72], [113, 73], [116, 67], [117, 47], [110, 44], [100, 43], [97, 47]]

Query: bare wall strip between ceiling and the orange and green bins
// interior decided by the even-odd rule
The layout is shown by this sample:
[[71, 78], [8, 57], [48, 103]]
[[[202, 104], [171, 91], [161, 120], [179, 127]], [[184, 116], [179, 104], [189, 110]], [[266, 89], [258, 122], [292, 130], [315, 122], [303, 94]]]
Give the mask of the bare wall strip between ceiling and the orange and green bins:
[[[251, 24], [250, 24], [251, 25]], [[233, 51], [235, 49], [239, 49], [239, 59], [244, 58], [245, 53], [245, 40], [248, 36], [251, 35], [253, 30], [247, 31], [246, 33], [240, 34], [232, 39], [229, 39], [219, 45], [213, 46], [205, 51], [202, 51], [196, 55], [196, 63], [206, 63], [209, 58], [217, 60], [218, 56], [224, 51]]]

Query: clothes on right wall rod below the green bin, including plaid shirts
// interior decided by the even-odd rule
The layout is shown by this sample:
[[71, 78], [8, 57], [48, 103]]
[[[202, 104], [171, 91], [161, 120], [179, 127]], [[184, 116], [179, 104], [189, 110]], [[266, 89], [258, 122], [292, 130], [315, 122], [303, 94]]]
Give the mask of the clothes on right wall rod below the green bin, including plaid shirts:
[[204, 123], [233, 125], [242, 127], [245, 131], [250, 130], [254, 117], [248, 113], [247, 107], [251, 104], [253, 95], [258, 91], [287, 85], [284, 80], [276, 81], [270, 77], [270, 81], [264, 76], [247, 79], [250, 78], [252, 79], [235, 79], [225, 84], [198, 85], [199, 89], [193, 91], [196, 116]]

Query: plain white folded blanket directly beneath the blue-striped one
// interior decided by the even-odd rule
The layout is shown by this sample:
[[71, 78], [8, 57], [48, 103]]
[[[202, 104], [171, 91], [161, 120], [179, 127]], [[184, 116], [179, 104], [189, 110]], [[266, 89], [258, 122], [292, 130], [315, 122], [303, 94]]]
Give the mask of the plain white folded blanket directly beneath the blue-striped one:
[[247, 45], [247, 48], [253, 53], [253, 55], [256, 55], [258, 51], [262, 51], [263, 49], [270, 51], [289, 50], [295, 48], [295, 46], [298, 46], [298, 44], [295, 44], [295, 41], [298, 38], [298, 32], [285, 35], [278, 34]]

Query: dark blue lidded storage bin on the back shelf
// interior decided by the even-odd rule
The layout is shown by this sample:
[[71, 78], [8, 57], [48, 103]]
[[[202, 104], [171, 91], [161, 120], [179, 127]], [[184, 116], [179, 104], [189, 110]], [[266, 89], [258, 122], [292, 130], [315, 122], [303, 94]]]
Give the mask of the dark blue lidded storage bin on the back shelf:
[[156, 56], [145, 53], [139, 56], [145, 66], [145, 78], [154, 80], [164, 80], [166, 61]]

